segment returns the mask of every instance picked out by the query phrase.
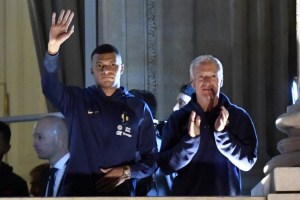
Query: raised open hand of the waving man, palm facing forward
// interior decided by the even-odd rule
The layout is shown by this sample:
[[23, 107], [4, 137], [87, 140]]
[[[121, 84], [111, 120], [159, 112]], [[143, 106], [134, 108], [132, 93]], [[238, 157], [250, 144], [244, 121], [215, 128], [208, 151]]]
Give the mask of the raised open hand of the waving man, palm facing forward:
[[60, 45], [74, 33], [74, 25], [69, 28], [74, 12], [62, 10], [56, 22], [56, 13], [52, 14], [52, 24], [49, 33], [48, 53], [56, 54]]

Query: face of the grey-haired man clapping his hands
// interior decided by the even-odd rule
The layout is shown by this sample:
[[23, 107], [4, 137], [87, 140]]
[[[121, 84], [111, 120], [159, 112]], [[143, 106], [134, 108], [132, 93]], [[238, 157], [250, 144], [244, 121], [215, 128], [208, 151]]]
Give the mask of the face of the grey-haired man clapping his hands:
[[193, 74], [192, 84], [196, 90], [197, 97], [206, 99], [219, 97], [220, 88], [223, 85], [223, 77], [215, 63], [199, 63], [193, 69]]

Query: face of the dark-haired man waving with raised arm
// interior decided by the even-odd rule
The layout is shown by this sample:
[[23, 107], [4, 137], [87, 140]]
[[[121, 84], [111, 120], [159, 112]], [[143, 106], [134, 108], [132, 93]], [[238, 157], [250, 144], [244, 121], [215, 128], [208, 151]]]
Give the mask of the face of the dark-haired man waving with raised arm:
[[101, 88], [120, 87], [124, 65], [115, 53], [95, 54], [91, 70], [96, 84]]

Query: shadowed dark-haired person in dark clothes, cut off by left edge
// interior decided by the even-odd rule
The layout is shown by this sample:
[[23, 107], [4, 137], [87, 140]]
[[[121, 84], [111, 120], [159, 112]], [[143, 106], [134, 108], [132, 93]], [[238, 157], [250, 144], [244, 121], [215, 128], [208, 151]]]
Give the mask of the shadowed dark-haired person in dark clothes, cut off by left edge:
[[28, 197], [26, 181], [13, 172], [13, 168], [3, 162], [3, 156], [10, 150], [10, 127], [0, 121], [0, 197]]

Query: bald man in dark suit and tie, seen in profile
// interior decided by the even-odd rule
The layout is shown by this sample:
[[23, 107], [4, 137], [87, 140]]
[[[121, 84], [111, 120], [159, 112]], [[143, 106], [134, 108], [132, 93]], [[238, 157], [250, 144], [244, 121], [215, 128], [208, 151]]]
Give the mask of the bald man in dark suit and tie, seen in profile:
[[[60, 196], [60, 185], [70, 158], [68, 128], [64, 120], [52, 115], [39, 119], [33, 129], [33, 147], [38, 157], [48, 160], [50, 164], [50, 176], [45, 196]], [[51, 177], [51, 171], [54, 171], [53, 177]], [[52, 178], [53, 185], [51, 185]]]

